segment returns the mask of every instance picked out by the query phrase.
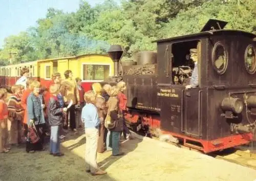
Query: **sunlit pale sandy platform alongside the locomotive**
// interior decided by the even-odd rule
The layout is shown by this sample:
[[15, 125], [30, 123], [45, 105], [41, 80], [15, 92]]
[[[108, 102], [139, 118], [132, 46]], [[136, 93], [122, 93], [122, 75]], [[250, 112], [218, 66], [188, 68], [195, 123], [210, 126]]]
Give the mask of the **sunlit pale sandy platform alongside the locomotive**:
[[[99, 166], [108, 176], [97, 180], [255, 180], [256, 170], [218, 160], [196, 151], [179, 148], [150, 138], [133, 135], [134, 139], [121, 143], [123, 156], [111, 156], [111, 152], [98, 153]], [[62, 143], [76, 155], [84, 157], [86, 144], [76, 145], [76, 140]], [[94, 178], [96, 179], [96, 178]]]

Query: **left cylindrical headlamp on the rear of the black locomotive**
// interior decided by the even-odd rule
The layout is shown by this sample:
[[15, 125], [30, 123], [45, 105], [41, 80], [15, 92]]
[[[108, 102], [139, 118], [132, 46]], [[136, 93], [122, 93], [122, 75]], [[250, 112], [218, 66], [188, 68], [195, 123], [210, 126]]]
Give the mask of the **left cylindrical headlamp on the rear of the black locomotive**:
[[244, 103], [240, 98], [227, 97], [221, 102], [221, 108], [224, 111], [232, 111], [234, 114], [240, 114], [243, 110]]

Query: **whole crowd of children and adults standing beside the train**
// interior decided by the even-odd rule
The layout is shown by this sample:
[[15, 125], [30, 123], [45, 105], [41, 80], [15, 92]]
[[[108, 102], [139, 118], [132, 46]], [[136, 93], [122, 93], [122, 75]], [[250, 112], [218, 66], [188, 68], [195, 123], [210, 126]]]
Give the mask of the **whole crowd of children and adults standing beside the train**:
[[[71, 130], [76, 132], [82, 126], [86, 133], [87, 172], [105, 174], [97, 166], [96, 152], [106, 150], [112, 151], [113, 156], [123, 155], [119, 152], [120, 135], [123, 131], [125, 139], [130, 136], [123, 119], [127, 102], [123, 94], [125, 83], [119, 82], [117, 86], [105, 84], [103, 87], [94, 83], [94, 90], [84, 93], [80, 78], [73, 80], [69, 70], [65, 77], [65, 83], [62, 83], [60, 74], [55, 73], [48, 87], [25, 77], [26, 86], [13, 85], [13, 94], [8, 100], [7, 90], [0, 89], [0, 152], [7, 153], [11, 146], [23, 143], [26, 143], [28, 153], [45, 150], [45, 135], [50, 135], [50, 154], [62, 156], [60, 139], [65, 137], [64, 129], [72, 119]], [[76, 121], [73, 120], [75, 114], [79, 118]]]

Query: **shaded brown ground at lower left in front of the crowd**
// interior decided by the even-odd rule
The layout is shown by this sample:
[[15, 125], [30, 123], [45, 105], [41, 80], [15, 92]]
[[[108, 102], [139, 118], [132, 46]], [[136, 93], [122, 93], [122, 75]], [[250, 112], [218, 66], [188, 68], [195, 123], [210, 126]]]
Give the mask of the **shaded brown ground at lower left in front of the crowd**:
[[[85, 144], [85, 139], [82, 135], [79, 143], [73, 145], [72, 140], [77, 135], [69, 134], [68, 137], [71, 144], [61, 148], [65, 153], [62, 157], [54, 157], [48, 150], [27, 153], [25, 146], [13, 147], [9, 153], [0, 153], [0, 180], [115, 180], [109, 175], [91, 176], [86, 173], [83, 158], [70, 151]], [[46, 148], [49, 148], [48, 144]], [[85, 149], [84, 145], [80, 149]]]

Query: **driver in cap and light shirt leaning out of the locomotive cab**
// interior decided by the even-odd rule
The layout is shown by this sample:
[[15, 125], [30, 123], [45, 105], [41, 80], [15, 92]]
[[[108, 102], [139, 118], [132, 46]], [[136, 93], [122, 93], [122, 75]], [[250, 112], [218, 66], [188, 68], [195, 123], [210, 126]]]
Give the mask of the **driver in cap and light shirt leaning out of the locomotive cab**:
[[198, 61], [198, 56], [197, 56], [197, 49], [190, 49], [190, 58], [193, 60], [195, 67], [190, 79], [189, 85], [186, 85], [186, 89], [189, 88], [195, 88], [198, 86], [198, 68], [197, 68], [197, 61]]

